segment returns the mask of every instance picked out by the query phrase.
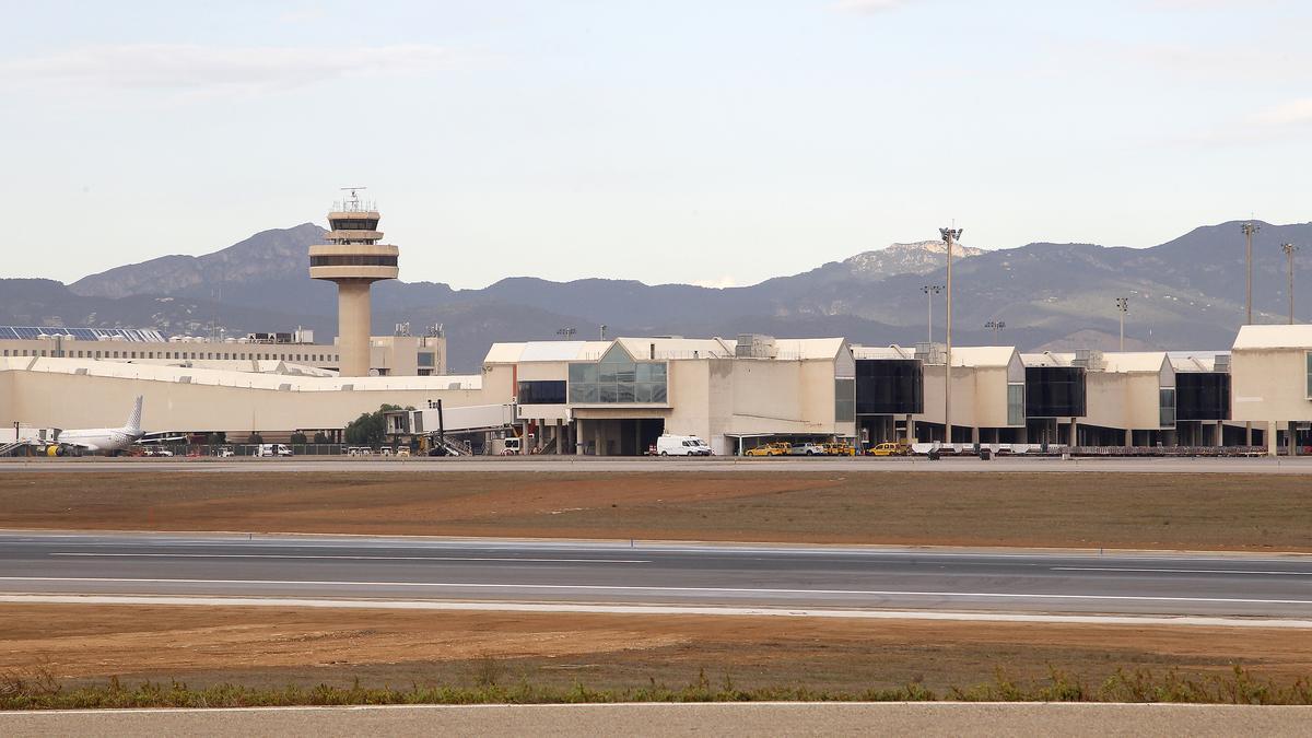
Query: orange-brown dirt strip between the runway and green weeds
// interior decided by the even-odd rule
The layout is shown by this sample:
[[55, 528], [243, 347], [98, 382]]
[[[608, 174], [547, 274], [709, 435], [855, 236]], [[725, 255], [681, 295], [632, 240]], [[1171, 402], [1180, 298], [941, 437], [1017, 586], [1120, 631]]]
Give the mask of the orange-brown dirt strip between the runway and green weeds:
[[744, 688], [934, 691], [1050, 668], [1097, 684], [1118, 667], [1312, 675], [1299, 630], [783, 617], [611, 616], [118, 605], [0, 605], [0, 672], [66, 683], [112, 675], [199, 687], [413, 683], [682, 687], [705, 672]]

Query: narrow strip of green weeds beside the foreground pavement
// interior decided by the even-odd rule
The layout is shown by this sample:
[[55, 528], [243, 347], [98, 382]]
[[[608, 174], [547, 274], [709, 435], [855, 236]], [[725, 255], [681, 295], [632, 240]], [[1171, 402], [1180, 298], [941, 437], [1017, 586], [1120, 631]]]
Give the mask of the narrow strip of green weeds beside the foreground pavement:
[[711, 682], [705, 671], [681, 688], [652, 680], [651, 685], [625, 689], [592, 689], [581, 683], [572, 688], [542, 688], [527, 682], [501, 685], [489, 668], [480, 684], [471, 687], [415, 684], [391, 687], [243, 687], [216, 684], [198, 689], [185, 683], [146, 682], [125, 685], [117, 678], [105, 684], [66, 689], [47, 671], [0, 676], [0, 709], [114, 709], [114, 708], [251, 708], [297, 705], [474, 705], [474, 704], [572, 704], [572, 703], [745, 703], [745, 701], [1025, 701], [1025, 703], [1189, 703], [1239, 705], [1312, 705], [1312, 682], [1299, 678], [1278, 684], [1254, 679], [1241, 667], [1202, 679], [1179, 676], [1176, 671], [1153, 674], [1148, 670], [1118, 670], [1101, 684], [1052, 671], [1043, 682], [1021, 684], [1001, 670], [994, 680], [971, 688], [953, 687], [935, 693], [918, 683], [896, 689], [829, 692], [806, 687], [740, 689], [729, 675]]

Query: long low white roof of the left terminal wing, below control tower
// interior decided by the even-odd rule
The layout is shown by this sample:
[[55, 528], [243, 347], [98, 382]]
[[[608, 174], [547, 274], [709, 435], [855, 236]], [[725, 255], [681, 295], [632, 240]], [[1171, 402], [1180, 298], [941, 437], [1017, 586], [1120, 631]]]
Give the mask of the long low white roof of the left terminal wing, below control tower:
[[281, 391], [476, 390], [483, 376], [300, 377], [199, 366], [160, 366], [96, 358], [0, 357], [0, 372], [26, 370]]

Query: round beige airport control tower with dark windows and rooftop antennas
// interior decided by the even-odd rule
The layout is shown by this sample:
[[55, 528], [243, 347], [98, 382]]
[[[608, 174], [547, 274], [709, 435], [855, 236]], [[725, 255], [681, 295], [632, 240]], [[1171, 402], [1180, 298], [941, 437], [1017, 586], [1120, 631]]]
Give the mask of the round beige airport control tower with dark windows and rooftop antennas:
[[342, 188], [350, 197], [335, 202], [328, 214], [325, 244], [310, 247], [310, 277], [337, 282], [337, 355], [342, 377], [369, 376], [369, 286], [395, 280], [400, 250], [378, 243], [378, 210], [359, 200], [357, 188]]

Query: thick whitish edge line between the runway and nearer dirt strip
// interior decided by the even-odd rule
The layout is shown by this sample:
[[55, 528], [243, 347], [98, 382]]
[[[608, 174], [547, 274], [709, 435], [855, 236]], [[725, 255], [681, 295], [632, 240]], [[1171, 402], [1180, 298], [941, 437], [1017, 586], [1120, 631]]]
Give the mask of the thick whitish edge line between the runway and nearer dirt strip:
[[622, 605], [573, 603], [514, 601], [438, 601], [438, 600], [342, 600], [300, 597], [198, 597], [178, 595], [0, 595], [0, 603], [12, 604], [100, 604], [100, 605], [207, 605], [207, 607], [311, 607], [341, 609], [430, 609], [459, 612], [543, 612], [600, 615], [705, 615], [705, 616], [769, 616], [769, 617], [834, 617], [849, 620], [943, 620], [975, 622], [1059, 622], [1086, 625], [1190, 625], [1210, 628], [1279, 628], [1312, 629], [1312, 620], [1245, 619], [1208, 616], [1132, 616], [1132, 615], [1013, 615], [976, 612], [924, 612], [882, 609], [817, 609], [817, 608], [731, 608], [698, 605]]

